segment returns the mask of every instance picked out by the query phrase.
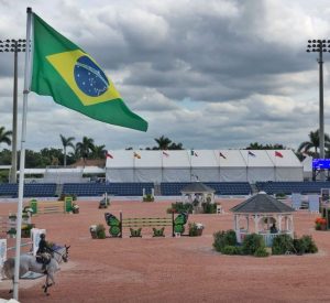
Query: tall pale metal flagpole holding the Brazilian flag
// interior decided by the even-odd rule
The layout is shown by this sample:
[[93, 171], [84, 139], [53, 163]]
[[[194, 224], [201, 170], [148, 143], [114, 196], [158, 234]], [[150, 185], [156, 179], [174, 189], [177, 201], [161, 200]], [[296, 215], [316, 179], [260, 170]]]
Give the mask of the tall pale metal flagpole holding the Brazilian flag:
[[28, 116], [28, 94], [31, 78], [31, 25], [32, 9], [26, 9], [26, 52], [25, 52], [25, 71], [24, 71], [24, 90], [23, 90], [23, 115], [22, 115], [22, 134], [21, 134], [21, 155], [20, 155], [20, 182], [19, 182], [19, 203], [16, 215], [16, 249], [15, 249], [15, 268], [13, 282], [13, 299], [19, 301], [19, 281], [20, 281], [20, 256], [21, 256], [21, 228], [22, 228], [22, 208], [24, 194], [24, 166], [25, 166], [25, 139], [26, 139], [26, 116]]

